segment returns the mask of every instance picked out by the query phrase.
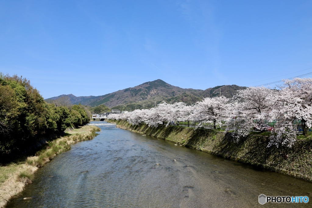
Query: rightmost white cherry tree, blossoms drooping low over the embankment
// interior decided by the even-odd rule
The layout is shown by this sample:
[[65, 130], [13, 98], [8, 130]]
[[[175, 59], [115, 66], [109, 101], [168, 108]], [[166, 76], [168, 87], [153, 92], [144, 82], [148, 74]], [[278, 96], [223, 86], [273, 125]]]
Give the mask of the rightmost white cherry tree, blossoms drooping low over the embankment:
[[298, 123], [306, 135], [312, 126], [312, 79], [295, 78], [284, 80], [284, 85], [276, 97], [276, 106], [270, 112], [271, 120], [276, 121], [268, 147], [295, 143]]

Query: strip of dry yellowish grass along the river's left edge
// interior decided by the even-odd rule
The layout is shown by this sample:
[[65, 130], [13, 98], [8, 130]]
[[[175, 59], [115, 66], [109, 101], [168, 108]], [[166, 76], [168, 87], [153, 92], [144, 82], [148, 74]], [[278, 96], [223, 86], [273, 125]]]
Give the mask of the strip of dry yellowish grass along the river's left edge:
[[90, 140], [96, 136], [96, 126], [70, 128], [61, 138], [52, 140], [35, 156], [22, 158], [6, 166], [0, 166], [0, 208], [14, 195], [21, 192], [25, 185], [32, 182], [33, 174], [39, 167], [49, 162], [57, 154], [69, 150], [71, 143]]

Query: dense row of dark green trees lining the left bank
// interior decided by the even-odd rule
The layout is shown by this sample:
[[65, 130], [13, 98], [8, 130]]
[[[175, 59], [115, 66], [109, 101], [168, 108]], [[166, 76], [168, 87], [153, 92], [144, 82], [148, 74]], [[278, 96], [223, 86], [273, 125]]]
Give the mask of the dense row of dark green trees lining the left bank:
[[88, 123], [87, 111], [82, 105], [48, 104], [29, 80], [0, 73], [0, 163], [41, 138]]

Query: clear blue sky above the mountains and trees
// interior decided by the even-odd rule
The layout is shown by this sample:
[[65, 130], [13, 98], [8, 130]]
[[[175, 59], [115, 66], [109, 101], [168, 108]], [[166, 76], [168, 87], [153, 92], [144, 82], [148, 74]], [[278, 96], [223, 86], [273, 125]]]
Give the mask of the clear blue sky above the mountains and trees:
[[312, 1], [286, 0], [0, 0], [0, 71], [44, 98], [156, 79], [265, 84], [312, 72], [311, 11]]

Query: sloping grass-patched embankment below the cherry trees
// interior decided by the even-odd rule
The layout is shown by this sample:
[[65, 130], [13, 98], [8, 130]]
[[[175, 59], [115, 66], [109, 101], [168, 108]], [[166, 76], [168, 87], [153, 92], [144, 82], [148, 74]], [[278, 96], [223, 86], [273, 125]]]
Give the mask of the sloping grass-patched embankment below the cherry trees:
[[268, 136], [251, 133], [239, 142], [234, 142], [229, 133], [224, 134], [212, 129], [184, 128], [146, 124], [131, 125], [127, 121], [111, 121], [118, 128], [148, 134], [183, 146], [208, 152], [214, 155], [247, 163], [271, 171], [312, 181], [312, 140], [300, 139], [292, 148], [270, 147]]

